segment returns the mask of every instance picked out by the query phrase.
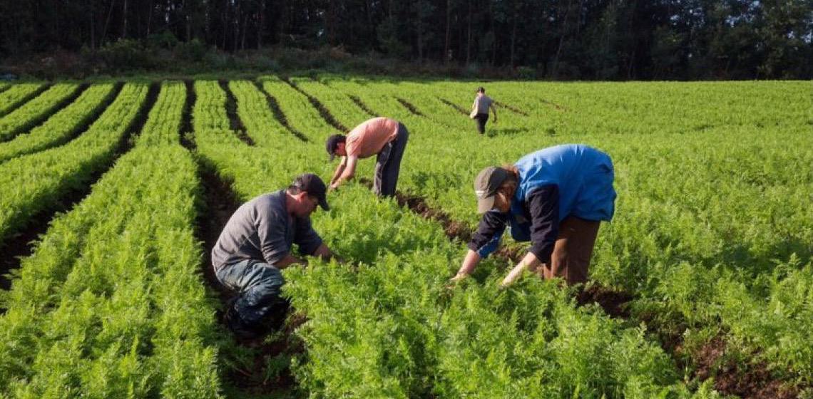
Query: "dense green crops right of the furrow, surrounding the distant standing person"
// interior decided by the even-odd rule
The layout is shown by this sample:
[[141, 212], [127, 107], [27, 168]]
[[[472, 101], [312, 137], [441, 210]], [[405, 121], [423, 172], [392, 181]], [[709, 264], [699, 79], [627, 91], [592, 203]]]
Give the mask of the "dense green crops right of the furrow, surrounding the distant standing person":
[[[467, 108], [472, 85], [323, 81], [404, 121], [413, 134], [402, 189], [472, 228], [480, 166], [564, 142], [611, 154], [619, 212], [599, 234], [593, 278], [636, 293], [637, 314], [669, 335], [726, 333], [743, 357], [813, 380], [813, 342], [800, 335], [811, 328], [809, 84], [489, 85], [515, 111], [499, 107], [491, 137], [477, 140], [471, 121], [435, 99]], [[298, 85], [317, 98], [328, 90]], [[340, 120], [355, 106], [324, 104]]]

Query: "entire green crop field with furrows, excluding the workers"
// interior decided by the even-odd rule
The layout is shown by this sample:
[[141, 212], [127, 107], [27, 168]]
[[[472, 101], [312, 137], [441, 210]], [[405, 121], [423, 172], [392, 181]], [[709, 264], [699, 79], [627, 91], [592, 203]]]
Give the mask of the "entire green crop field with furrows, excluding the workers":
[[[485, 86], [498, 124], [468, 119]], [[0, 85], [0, 398], [813, 397], [810, 81], [258, 76]], [[357, 178], [312, 216], [354, 266], [284, 271], [261, 345], [220, 323], [209, 251], [242, 202], [372, 116], [409, 128], [397, 198]], [[583, 143], [615, 219], [583, 290], [525, 245], [453, 287], [481, 167]], [[372, 177], [363, 160], [357, 176]]]

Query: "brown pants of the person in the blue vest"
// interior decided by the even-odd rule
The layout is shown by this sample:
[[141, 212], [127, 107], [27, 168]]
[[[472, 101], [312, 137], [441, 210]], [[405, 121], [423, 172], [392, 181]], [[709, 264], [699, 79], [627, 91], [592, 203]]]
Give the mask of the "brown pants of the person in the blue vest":
[[593, 245], [596, 244], [598, 226], [601, 222], [567, 216], [559, 223], [559, 237], [556, 239], [550, 264], [543, 263], [537, 274], [544, 279], [563, 277], [567, 285], [587, 282], [587, 271]]

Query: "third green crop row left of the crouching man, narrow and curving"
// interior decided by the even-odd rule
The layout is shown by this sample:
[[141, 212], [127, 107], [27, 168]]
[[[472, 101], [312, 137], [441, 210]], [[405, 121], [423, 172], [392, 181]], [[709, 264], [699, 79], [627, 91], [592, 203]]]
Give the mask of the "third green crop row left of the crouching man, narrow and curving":
[[90, 86], [75, 102], [51, 116], [44, 124], [20, 134], [11, 141], [0, 143], [0, 163], [31, 154], [70, 140], [76, 130], [88, 124], [115, 94], [113, 84]]

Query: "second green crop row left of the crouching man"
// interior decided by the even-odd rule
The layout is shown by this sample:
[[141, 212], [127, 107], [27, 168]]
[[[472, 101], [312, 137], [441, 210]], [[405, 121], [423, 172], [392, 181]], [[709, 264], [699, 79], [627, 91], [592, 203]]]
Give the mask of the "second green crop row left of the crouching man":
[[93, 173], [111, 163], [147, 89], [147, 85], [124, 85], [111, 106], [76, 140], [0, 165], [0, 237], [59, 204], [65, 193], [85, 189]]

